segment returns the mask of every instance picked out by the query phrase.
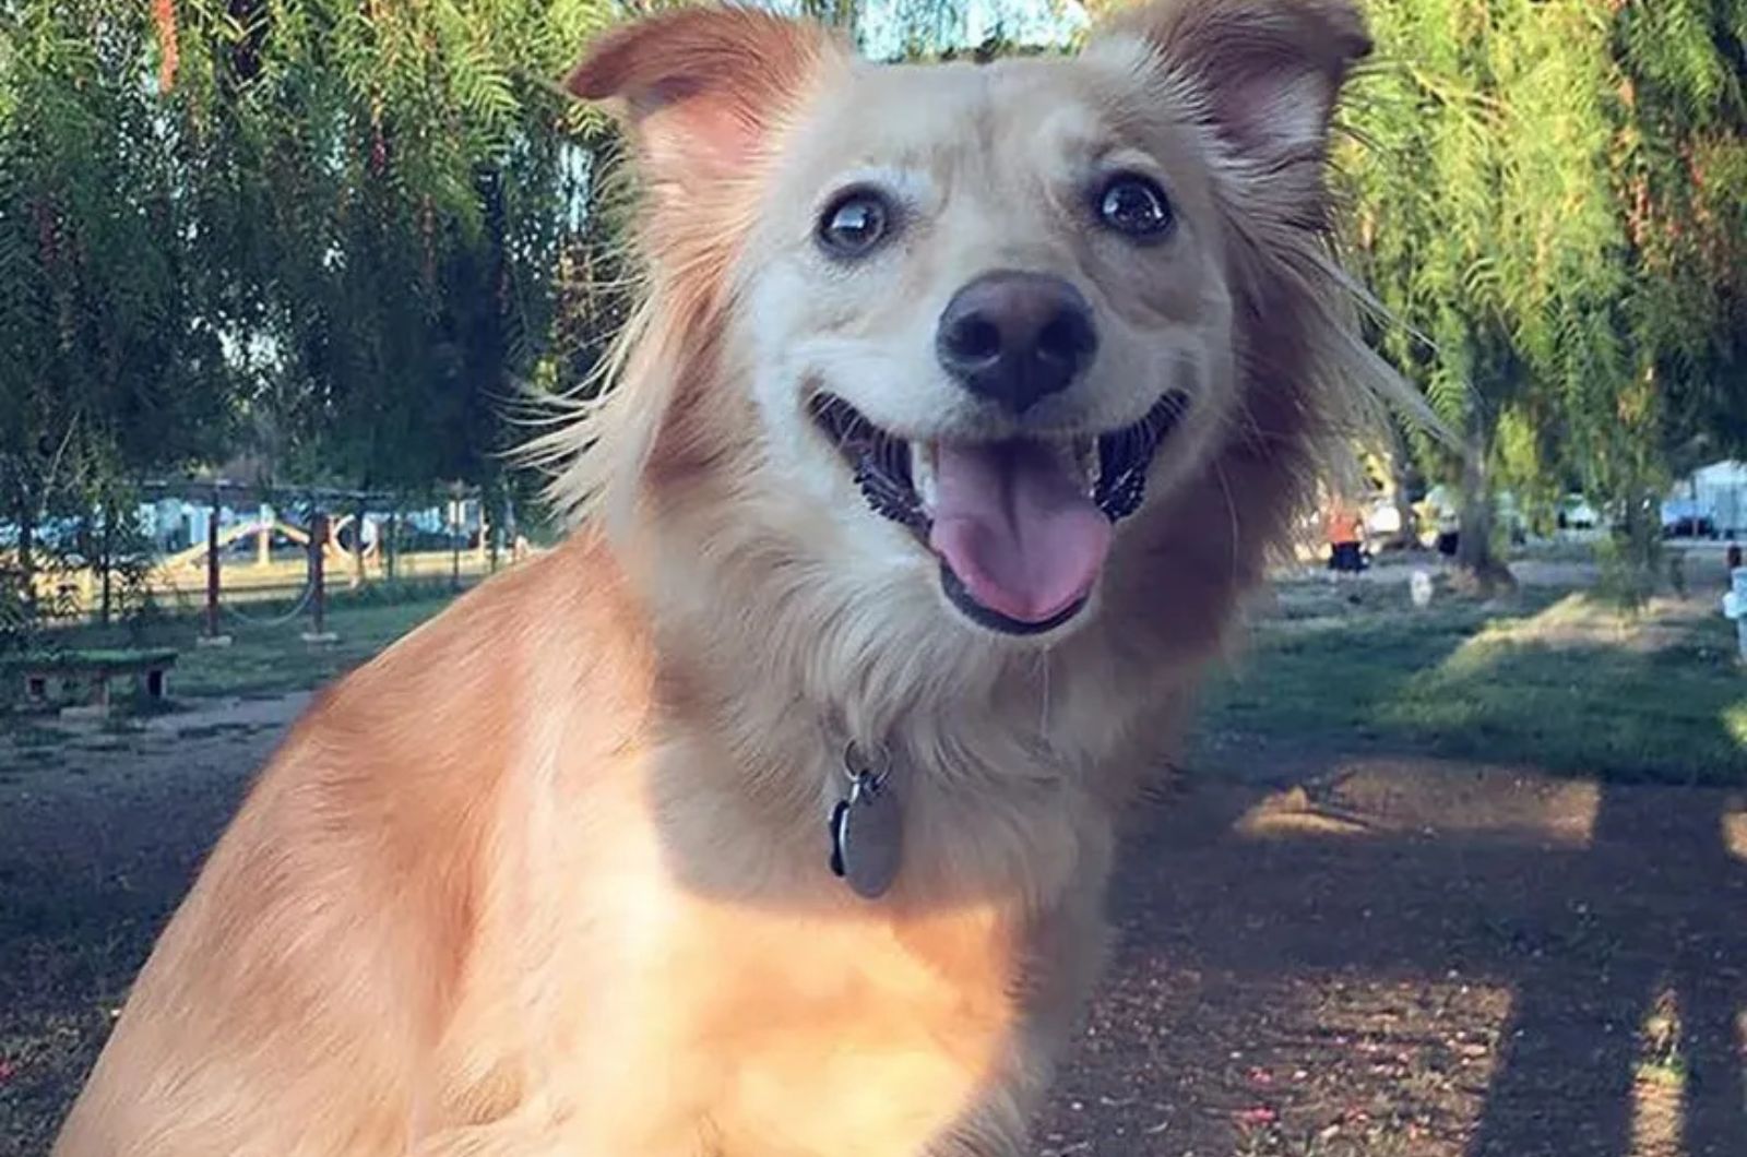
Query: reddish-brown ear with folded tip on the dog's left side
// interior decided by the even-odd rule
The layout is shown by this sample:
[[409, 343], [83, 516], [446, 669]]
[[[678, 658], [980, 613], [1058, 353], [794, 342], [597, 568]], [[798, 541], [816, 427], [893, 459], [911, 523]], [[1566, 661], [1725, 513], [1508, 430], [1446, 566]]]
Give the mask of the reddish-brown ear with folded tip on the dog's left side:
[[819, 63], [840, 51], [818, 24], [692, 7], [601, 35], [568, 87], [618, 107], [648, 178], [694, 187], [744, 175]]

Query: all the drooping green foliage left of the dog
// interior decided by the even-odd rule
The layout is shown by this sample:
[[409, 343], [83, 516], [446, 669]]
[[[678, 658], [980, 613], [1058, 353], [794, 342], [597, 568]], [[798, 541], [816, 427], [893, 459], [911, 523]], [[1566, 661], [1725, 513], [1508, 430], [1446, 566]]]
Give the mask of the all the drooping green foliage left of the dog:
[[129, 558], [119, 519], [87, 533], [119, 488], [238, 453], [267, 484], [526, 495], [508, 404], [599, 343], [564, 318], [594, 292], [571, 273], [606, 128], [556, 82], [615, 14], [0, 3], [12, 601], [45, 566]]

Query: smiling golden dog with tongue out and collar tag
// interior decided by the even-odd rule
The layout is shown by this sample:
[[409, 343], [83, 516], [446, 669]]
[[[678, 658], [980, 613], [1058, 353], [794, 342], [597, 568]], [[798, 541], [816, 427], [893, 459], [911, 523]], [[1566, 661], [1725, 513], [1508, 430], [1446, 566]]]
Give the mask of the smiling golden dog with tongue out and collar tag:
[[535, 451], [578, 530], [293, 725], [56, 1154], [1027, 1152], [1122, 816], [1406, 402], [1329, 245], [1368, 49], [1352, 0], [601, 35], [646, 287]]

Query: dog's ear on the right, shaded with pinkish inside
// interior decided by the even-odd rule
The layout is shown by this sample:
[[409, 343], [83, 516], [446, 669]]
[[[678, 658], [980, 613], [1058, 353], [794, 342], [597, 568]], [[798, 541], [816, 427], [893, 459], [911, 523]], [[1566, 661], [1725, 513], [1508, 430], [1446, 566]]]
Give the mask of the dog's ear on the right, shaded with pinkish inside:
[[1153, 0], [1101, 33], [1116, 37], [1146, 40], [1232, 149], [1270, 166], [1321, 152], [1335, 98], [1371, 51], [1354, 0]]

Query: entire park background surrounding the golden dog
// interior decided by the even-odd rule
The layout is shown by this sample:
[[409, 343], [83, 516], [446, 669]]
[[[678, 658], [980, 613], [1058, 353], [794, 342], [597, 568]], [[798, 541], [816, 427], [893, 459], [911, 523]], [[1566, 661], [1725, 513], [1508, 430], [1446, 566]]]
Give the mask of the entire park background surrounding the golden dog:
[[[638, 273], [559, 86], [652, 7], [0, 0], [0, 1154], [311, 689], [559, 533], [505, 451]], [[1462, 453], [1356, 446], [1253, 606], [1039, 1154], [1740, 1157], [1747, 0], [1364, 7], [1340, 245]]]

